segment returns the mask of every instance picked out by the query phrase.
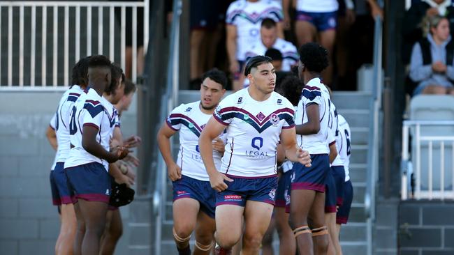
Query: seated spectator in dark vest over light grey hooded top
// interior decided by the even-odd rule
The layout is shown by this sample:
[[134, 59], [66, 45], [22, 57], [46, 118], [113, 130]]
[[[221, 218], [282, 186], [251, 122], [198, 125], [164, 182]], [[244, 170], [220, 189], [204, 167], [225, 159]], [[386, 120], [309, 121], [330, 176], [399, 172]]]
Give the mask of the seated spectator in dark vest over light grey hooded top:
[[413, 95], [454, 95], [454, 42], [449, 34], [446, 17], [434, 15], [425, 22], [427, 37], [413, 46], [410, 62], [410, 79], [418, 82]]

